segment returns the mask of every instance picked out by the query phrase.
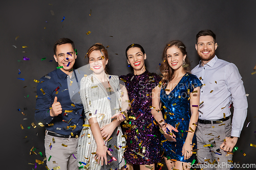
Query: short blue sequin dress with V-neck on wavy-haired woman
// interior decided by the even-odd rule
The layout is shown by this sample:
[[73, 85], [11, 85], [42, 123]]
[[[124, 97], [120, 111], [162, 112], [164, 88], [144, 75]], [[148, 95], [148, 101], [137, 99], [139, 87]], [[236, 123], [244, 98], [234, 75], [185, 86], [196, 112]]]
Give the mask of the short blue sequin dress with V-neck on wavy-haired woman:
[[[177, 86], [169, 93], [166, 94], [166, 86], [163, 86], [160, 93], [160, 99], [162, 102], [162, 113], [166, 115], [165, 122], [173, 127], [178, 126], [179, 132], [174, 132], [176, 135], [176, 142], [165, 141], [163, 142], [164, 156], [170, 159], [175, 159], [181, 162], [191, 162], [195, 159], [193, 154], [189, 159], [184, 160], [182, 156], [182, 147], [185, 143], [187, 133], [189, 130], [189, 120], [191, 116], [190, 102], [188, 100], [189, 93], [196, 87], [201, 87], [202, 83], [197, 76], [192, 74], [185, 74]], [[165, 109], [166, 108], [166, 109]], [[166, 114], [167, 113], [167, 114]], [[169, 114], [174, 113], [174, 115]], [[161, 140], [166, 138], [161, 134]], [[196, 135], [194, 135], [192, 144], [196, 144]], [[193, 147], [193, 150], [197, 149], [197, 145]]]

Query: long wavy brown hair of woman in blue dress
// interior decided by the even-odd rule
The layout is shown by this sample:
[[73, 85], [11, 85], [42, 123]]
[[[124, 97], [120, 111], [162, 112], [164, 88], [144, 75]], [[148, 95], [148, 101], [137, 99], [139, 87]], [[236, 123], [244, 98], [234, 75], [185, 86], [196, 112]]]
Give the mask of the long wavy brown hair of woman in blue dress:
[[[163, 78], [161, 80], [162, 83], [166, 83], [170, 80], [173, 80], [173, 78], [174, 78], [174, 69], [169, 66], [168, 61], [167, 61], [167, 55], [166, 55], [167, 49], [172, 46], [177, 46], [180, 49], [183, 56], [187, 55], [186, 46], [180, 40], [173, 40], [165, 45], [163, 54], [162, 54], [162, 63], [160, 65], [160, 71], [163, 75], [162, 76]], [[185, 58], [185, 63], [188, 64], [188, 66], [184, 67], [183, 69], [184, 69], [184, 71], [190, 73], [190, 62], [189, 62], [187, 56]]]

